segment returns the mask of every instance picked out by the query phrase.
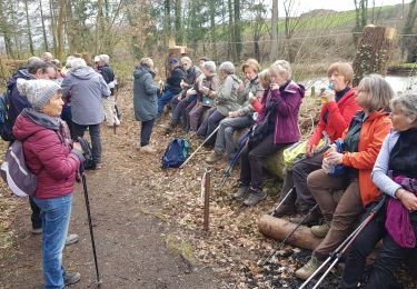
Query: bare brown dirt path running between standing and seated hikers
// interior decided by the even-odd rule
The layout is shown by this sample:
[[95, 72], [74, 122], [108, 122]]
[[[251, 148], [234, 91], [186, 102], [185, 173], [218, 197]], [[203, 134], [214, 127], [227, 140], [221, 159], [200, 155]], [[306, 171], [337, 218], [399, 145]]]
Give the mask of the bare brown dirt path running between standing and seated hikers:
[[[159, 160], [136, 150], [137, 123], [123, 122], [117, 136], [107, 128], [102, 132], [103, 167], [87, 176], [101, 288], [220, 288], [210, 267], [191, 263], [176, 243], [176, 226], [157, 213], [160, 191], [150, 183]], [[72, 288], [89, 288], [96, 272], [80, 185], [73, 197], [70, 232], [78, 233], [80, 242], [64, 249], [63, 263], [82, 275]], [[12, 222], [13, 250], [0, 261], [0, 288], [42, 286], [41, 237], [29, 228], [30, 209], [22, 201]]]

